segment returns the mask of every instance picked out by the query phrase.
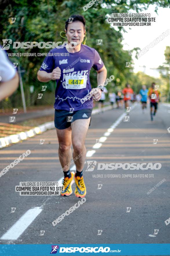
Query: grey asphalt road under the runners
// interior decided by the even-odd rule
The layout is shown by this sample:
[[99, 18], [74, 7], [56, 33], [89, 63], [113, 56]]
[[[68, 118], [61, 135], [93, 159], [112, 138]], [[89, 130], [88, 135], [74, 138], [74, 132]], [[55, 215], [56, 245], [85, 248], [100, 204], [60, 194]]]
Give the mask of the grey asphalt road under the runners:
[[[120, 119], [123, 113], [123, 109], [114, 109], [92, 116], [85, 144], [88, 155], [92, 155], [87, 160], [96, 161], [96, 165], [93, 171], [85, 171], [85, 163], [86, 202], [56, 226], [52, 221], [78, 202], [74, 193], [61, 197], [20, 196], [15, 192], [19, 182], [54, 182], [63, 177], [56, 131], [46, 131], [0, 150], [1, 170], [26, 150], [31, 151], [28, 157], [0, 177], [0, 237], [4, 234], [8, 237], [1, 239], [1, 244], [169, 243], [170, 225], [165, 221], [170, 217], [170, 133], [167, 131], [170, 127], [170, 106], [160, 105], [153, 122], [150, 121], [149, 106], [142, 114], [140, 104], [136, 104], [129, 113], [129, 122]], [[40, 139], [45, 140], [43, 145], [39, 144]], [[97, 139], [103, 140], [101, 147], [96, 146]], [[158, 141], [153, 144], [155, 139]], [[161, 163], [162, 167], [160, 170], [97, 170], [98, 163]], [[94, 177], [97, 174], [120, 174], [121, 178]], [[154, 177], [123, 178], [123, 174], [153, 174]], [[156, 186], [163, 179], [165, 181]], [[98, 184], [102, 184], [101, 189], [98, 189]], [[147, 194], [154, 186], [156, 189]], [[75, 183], [73, 191], [74, 187]], [[11, 207], [16, 208], [12, 213]], [[131, 207], [129, 212], [126, 212], [127, 207]], [[41, 209], [41, 212], [30, 224], [27, 224], [31, 218], [29, 214], [27, 221], [19, 223], [18, 220], [29, 209]], [[21, 229], [25, 225], [17, 239], [18, 226], [12, 234], [8, 232], [16, 222]], [[153, 235], [154, 229], [159, 230], [158, 234]], [[41, 230], [45, 232], [40, 236]], [[100, 235], [98, 230], [102, 230]]]

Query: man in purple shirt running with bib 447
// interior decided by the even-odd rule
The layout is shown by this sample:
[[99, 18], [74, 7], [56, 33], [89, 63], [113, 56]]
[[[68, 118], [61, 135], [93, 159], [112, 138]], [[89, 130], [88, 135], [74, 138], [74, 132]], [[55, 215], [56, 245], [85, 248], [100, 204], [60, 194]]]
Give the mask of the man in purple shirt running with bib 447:
[[[68, 41], [66, 47], [54, 48], [50, 51], [50, 55], [53, 54], [53, 56], [47, 56], [44, 59], [37, 77], [41, 82], [56, 80], [54, 123], [59, 141], [59, 159], [64, 172], [65, 188], [61, 195], [72, 194], [74, 178], [76, 184], [74, 194], [76, 197], [83, 198], [86, 195], [83, 180], [86, 158], [85, 138], [93, 107], [92, 98], [87, 96], [90, 93], [94, 100], [99, 101], [102, 94], [101, 86], [91, 89], [89, 73], [92, 67], [96, 70], [99, 86], [105, 82], [107, 70], [98, 52], [82, 44], [86, 34], [85, 18], [81, 15], [72, 15], [70, 18], [72, 22], [69, 22], [70, 19], [65, 22], [65, 35]], [[74, 42], [76, 47], [72, 48], [70, 42]], [[76, 165], [75, 175], [70, 173], [68, 166], [72, 158], [71, 145]]]

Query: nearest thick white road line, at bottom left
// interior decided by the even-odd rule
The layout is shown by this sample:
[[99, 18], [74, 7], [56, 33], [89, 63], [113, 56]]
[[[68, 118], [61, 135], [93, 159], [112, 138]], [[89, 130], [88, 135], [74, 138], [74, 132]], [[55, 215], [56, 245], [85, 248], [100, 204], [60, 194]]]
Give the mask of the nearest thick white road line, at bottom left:
[[40, 214], [42, 209], [42, 207], [34, 207], [26, 211], [25, 214], [0, 239], [17, 240], [32, 221], [34, 221], [34, 219]]

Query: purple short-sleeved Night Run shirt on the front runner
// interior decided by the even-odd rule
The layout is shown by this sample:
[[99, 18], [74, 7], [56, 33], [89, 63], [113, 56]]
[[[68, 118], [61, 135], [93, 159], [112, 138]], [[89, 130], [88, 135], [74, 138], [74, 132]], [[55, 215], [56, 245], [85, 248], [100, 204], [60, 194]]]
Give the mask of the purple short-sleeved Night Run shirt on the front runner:
[[52, 49], [45, 57], [40, 70], [51, 73], [56, 67], [61, 69], [61, 77], [56, 80], [54, 109], [92, 109], [92, 101], [87, 100], [82, 104], [80, 100], [91, 91], [91, 68], [100, 70], [103, 65], [98, 52], [87, 45], [81, 44], [81, 50], [75, 53], [69, 53], [66, 47]]

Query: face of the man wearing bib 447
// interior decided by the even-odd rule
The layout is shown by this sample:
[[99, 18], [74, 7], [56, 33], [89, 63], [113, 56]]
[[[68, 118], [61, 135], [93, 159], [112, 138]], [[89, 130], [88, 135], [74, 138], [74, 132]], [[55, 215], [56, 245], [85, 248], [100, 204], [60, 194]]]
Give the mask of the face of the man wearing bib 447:
[[85, 37], [84, 25], [81, 21], [68, 23], [67, 31], [65, 30], [65, 32], [68, 43], [76, 42], [77, 45], [79, 45], [83, 42], [83, 39]]

